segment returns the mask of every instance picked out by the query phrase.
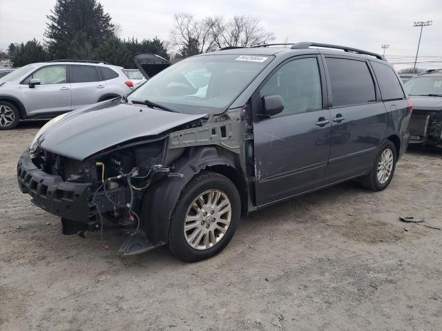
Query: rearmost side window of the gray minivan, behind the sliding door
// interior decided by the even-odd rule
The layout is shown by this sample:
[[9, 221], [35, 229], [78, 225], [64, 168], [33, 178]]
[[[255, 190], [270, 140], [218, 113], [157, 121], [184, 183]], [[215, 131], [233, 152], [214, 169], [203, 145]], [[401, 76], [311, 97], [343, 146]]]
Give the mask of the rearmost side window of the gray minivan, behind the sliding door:
[[374, 61], [370, 61], [370, 63], [372, 63], [383, 101], [404, 99], [405, 94], [403, 93], [401, 83], [393, 69], [383, 63]]

